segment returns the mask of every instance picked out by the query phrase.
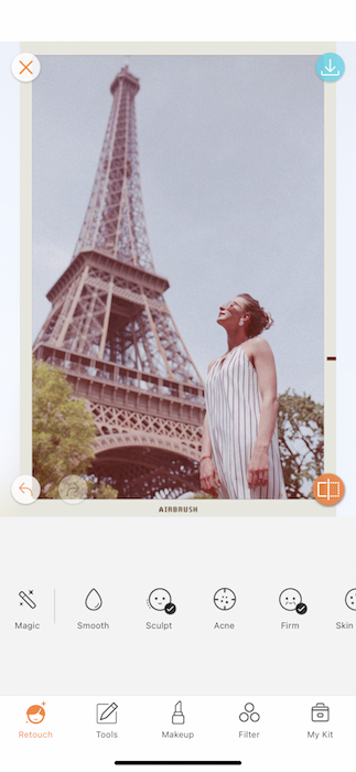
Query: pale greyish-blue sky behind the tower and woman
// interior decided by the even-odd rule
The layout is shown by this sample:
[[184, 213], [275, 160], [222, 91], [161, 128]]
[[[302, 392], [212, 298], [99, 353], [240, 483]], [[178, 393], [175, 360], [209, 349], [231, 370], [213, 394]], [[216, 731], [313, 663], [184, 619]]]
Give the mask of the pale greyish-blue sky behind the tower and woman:
[[[220, 303], [270, 311], [279, 392], [323, 401], [323, 82], [317, 56], [131, 56], [143, 206], [165, 300], [203, 379]], [[82, 227], [123, 56], [41, 56], [33, 83], [33, 336]]]

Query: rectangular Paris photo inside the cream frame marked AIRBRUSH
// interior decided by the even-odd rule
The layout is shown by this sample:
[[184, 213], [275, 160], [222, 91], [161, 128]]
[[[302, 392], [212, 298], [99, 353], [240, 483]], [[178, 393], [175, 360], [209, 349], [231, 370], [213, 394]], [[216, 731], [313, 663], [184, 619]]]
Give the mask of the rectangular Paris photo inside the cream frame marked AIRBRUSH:
[[316, 58], [42, 56], [41, 497], [311, 497], [324, 471]]

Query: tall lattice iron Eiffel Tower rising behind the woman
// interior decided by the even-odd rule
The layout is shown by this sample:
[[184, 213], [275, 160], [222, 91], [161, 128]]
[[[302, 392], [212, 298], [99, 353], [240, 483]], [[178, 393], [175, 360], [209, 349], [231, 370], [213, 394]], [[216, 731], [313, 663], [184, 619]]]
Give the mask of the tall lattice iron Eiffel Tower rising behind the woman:
[[120, 498], [198, 491], [202, 378], [164, 300], [143, 214], [134, 97], [126, 65], [80, 235], [47, 293], [52, 310], [34, 355], [63, 369], [96, 426], [90, 473]]

